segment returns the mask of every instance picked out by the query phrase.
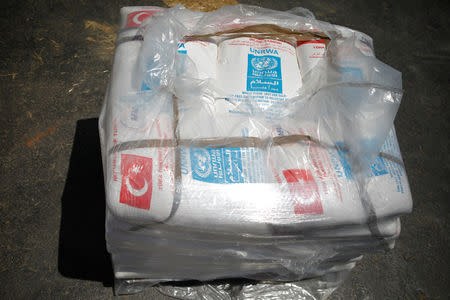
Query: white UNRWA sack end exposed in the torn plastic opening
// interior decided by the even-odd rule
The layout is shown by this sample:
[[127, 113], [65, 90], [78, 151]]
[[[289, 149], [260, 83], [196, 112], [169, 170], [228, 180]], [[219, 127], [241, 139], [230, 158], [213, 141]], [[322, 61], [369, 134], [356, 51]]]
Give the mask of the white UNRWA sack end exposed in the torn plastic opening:
[[264, 110], [266, 118], [279, 118], [284, 102], [296, 96], [302, 84], [295, 47], [286, 42], [226, 40], [219, 45], [218, 58], [218, 77], [229, 81], [226, 98], [236, 107], [230, 113], [252, 114], [256, 108]]

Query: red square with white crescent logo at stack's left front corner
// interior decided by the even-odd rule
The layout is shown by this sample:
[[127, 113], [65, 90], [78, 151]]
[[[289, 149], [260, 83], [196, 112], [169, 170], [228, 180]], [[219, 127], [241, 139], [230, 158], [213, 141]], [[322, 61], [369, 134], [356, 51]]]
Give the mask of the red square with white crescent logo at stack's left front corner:
[[152, 159], [122, 154], [120, 173], [120, 203], [149, 210], [152, 199]]

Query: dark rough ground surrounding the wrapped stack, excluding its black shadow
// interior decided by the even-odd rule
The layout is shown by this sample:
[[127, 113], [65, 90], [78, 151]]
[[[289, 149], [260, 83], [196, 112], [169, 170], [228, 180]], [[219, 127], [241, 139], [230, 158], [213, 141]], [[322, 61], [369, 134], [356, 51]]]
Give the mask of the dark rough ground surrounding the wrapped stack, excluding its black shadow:
[[[374, 38], [403, 72], [395, 124], [414, 197], [388, 254], [363, 259], [332, 299], [449, 299], [450, 5], [435, 1], [242, 1]], [[97, 120], [126, 5], [2, 1], [0, 298], [112, 298]], [[95, 21], [106, 26], [90, 26]], [[92, 24], [92, 23], [91, 23]], [[164, 299], [154, 289], [126, 299]]]

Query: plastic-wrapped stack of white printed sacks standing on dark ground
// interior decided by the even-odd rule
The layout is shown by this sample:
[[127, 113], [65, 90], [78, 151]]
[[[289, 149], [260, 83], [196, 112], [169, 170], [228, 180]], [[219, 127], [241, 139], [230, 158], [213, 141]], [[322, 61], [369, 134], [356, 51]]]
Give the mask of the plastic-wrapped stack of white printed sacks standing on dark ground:
[[332, 289], [293, 282], [394, 246], [412, 205], [393, 127], [401, 73], [369, 36], [302, 8], [121, 13], [99, 120], [117, 293], [246, 278], [290, 283], [234, 298], [278, 286], [320, 299]]

